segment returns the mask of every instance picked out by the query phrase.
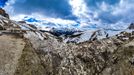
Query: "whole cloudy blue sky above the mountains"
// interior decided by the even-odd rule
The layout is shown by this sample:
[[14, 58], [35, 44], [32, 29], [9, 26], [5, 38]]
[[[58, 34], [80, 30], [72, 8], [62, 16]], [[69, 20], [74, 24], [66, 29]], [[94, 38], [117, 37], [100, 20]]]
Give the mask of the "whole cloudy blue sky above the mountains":
[[134, 22], [134, 0], [0, 0], [0, 7], [13, 20], [55, 27], [122, 29]]

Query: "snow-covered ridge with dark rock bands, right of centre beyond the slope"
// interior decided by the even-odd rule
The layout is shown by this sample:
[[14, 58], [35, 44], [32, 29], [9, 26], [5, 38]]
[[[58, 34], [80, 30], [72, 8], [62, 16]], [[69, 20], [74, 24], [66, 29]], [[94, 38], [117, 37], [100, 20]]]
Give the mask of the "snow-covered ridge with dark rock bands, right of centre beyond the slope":
[[84, 41], [95, 41], [103, 38], [108, 38], [109, 34], [105, 30], [95, 31], [77, 31], [72, 35], [61, 36], [66, 43], [80, 43]]

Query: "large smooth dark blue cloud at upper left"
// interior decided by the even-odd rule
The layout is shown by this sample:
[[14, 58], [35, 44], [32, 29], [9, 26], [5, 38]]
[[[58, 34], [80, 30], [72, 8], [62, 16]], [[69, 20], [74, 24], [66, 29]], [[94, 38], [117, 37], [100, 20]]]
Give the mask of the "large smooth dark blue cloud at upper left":
[[68, 0], [16, 0], [12, 6], [17, 14], [36, 12], [52, 17], [75, 18]]

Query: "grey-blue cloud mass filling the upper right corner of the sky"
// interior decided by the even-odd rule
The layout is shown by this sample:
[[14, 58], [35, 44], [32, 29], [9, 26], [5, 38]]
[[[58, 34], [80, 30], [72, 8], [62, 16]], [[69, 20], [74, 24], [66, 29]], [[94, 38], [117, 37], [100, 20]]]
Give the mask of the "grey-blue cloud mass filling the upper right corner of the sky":
[[102, 23], [134, 22], [133, 0], [85, 0], [90, 11], [97, 12]]

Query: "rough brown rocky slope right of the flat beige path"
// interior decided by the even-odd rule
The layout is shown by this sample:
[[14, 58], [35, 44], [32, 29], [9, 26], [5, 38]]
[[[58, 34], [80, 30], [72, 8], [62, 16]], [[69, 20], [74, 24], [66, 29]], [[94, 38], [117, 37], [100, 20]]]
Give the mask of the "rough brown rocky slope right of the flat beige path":
[[[133, 75], [134, 38], [130, 39], [130, 36], [126, 36], [128, 39], [125, 41], [114, 36], [92, 42], [66, 44], [54, 37], [41, 40], [36, 33], [30, 32], [25, 37], [30, 40], [35, 52], [35, 55], [31, 55], [38, 56], [35, 57], [38, 65], [33, 69], [31, 65], [34, 63], [23, 64], [17, 72], [22, 71], [18, 75]], [[30, 60], [33, 58], [27, 59]], [[41, 73], [36, 69], [38, 66]], [[30, 68], [24, 70], [23, 67]]]

